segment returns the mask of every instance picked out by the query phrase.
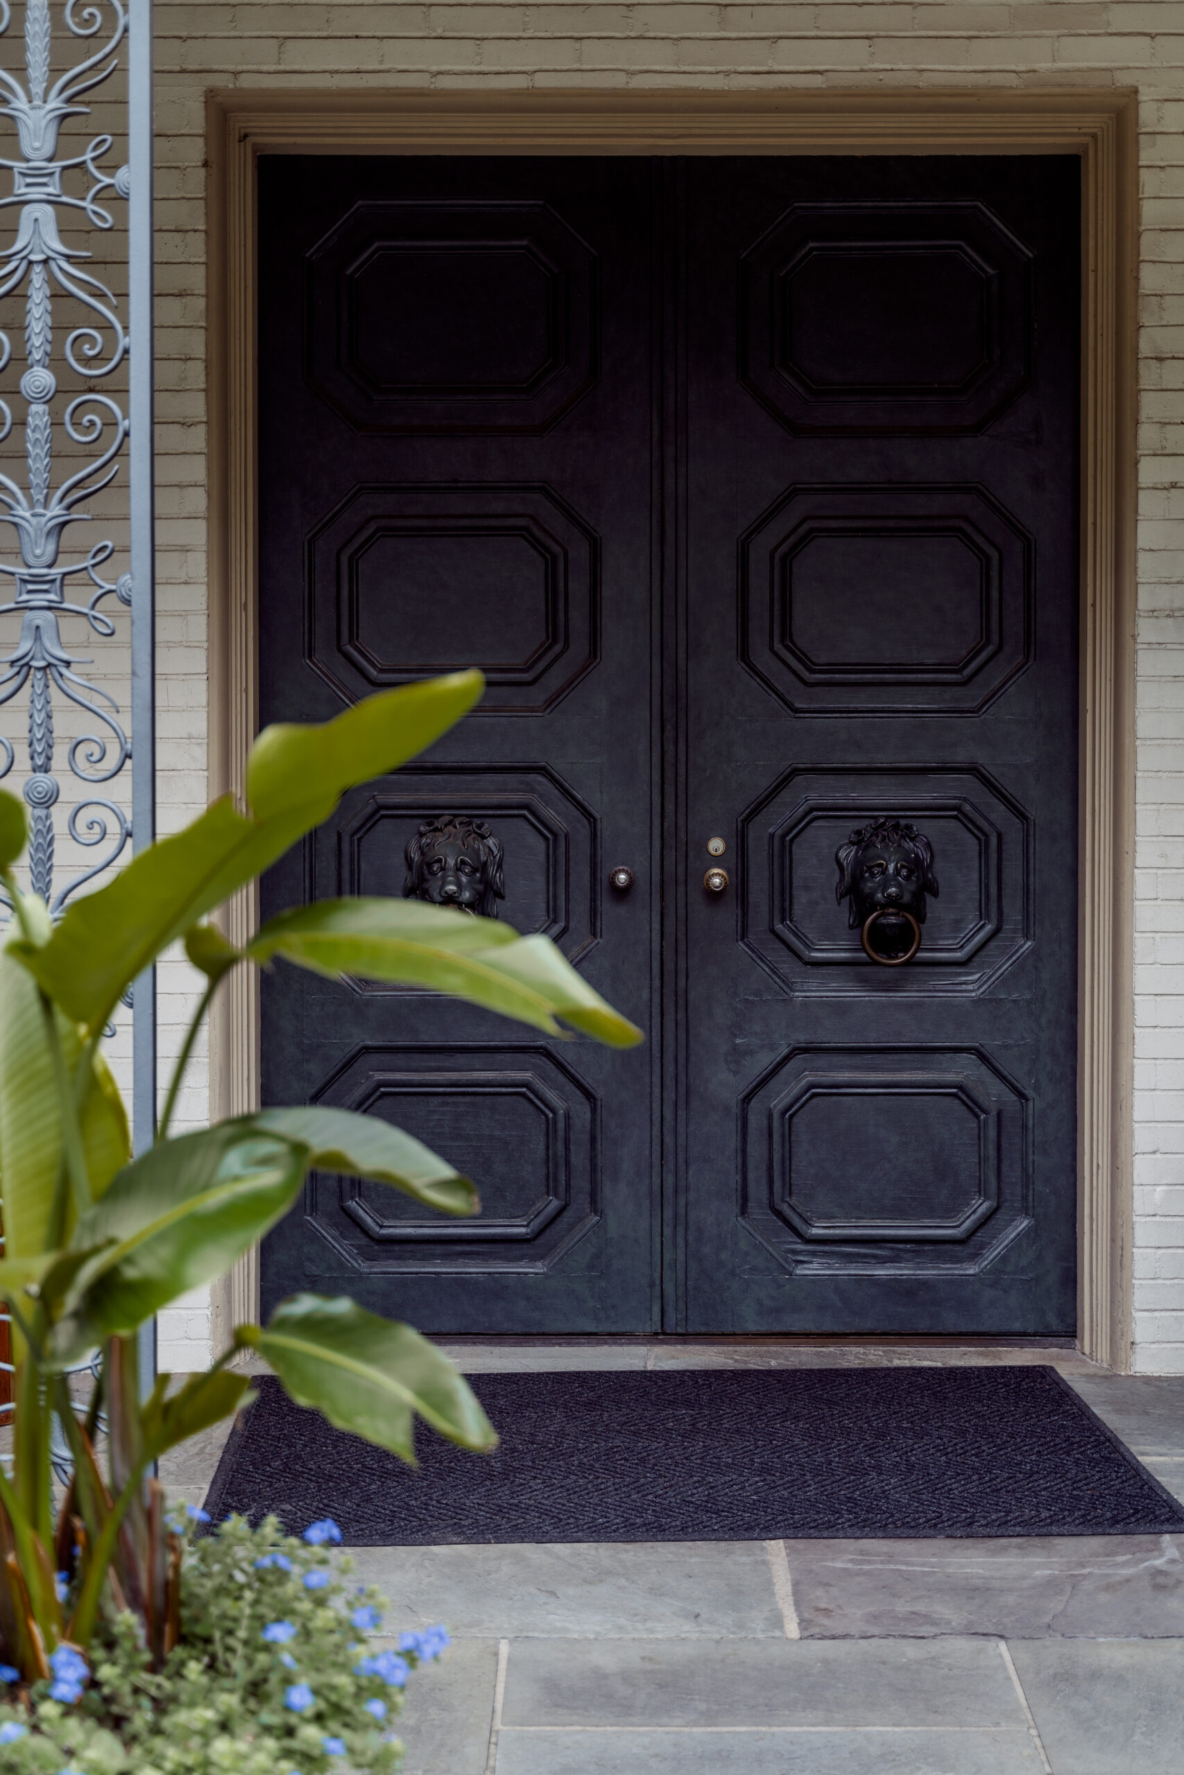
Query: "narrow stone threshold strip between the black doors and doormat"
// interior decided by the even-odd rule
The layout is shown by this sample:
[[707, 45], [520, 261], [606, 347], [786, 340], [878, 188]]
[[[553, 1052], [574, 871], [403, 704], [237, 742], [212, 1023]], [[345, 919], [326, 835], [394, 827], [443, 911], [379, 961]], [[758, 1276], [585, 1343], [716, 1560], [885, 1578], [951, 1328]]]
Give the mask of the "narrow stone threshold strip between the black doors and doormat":
[[1109, 1374], [1072, 1338], [1037, 1337], [435, 1337], [463, 1374], [579, 1369], [884, 1369], [1033, 1365]]

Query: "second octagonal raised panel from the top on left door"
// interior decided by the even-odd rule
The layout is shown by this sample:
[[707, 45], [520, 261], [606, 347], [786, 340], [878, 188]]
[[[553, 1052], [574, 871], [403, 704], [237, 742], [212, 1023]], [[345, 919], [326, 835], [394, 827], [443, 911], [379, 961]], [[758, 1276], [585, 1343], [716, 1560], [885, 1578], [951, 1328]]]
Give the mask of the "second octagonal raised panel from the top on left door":
[[312, 667], [346, 699], [479, 666], [545, 714], [596, 664], [596, 538], [549, 486], [359, 486], [305, 548]]

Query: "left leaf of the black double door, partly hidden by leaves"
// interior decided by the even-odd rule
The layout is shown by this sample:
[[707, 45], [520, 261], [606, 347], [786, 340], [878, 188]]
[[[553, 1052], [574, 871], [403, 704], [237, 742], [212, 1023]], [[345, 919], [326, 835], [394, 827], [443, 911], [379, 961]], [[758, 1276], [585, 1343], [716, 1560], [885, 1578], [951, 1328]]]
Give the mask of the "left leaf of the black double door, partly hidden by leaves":
[[[481, 666], [478, 712], [263, 884], [460, 896], [653, 1003], [651, 174], [630, 160], [259, 163], [259, 714]], [[634, 872], [628, 893], [609, 870]], [[263, 982], [263, 1100], [385, 1116], [476, 1179], [444, 1221], [316, 1175], [263, 1308], [426, 1331], [655, 1324], [651, 1056], [431, 994]]]

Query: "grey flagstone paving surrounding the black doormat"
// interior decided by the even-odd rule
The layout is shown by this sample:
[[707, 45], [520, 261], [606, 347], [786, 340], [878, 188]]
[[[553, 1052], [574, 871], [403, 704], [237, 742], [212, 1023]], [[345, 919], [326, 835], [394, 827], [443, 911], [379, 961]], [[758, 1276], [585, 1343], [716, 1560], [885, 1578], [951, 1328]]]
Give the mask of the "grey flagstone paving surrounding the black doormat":
[[[540, 1367], [1053, 1361], [1184, 1498], [1184, 1377], [909, 1344], [447, 1345]], [[197, 1496], [220, 1438], [167, 1471]], [[1184, 1775], [1184, 1535], [355, 1550], [447, 1622], [405, 1775]]]

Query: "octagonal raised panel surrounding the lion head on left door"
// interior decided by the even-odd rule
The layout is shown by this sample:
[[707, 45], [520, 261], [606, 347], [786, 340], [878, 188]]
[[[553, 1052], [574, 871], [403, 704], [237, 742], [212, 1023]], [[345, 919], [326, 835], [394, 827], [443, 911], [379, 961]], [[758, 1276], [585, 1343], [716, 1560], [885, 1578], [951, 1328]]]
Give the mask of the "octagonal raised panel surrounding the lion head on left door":
[[[407, 879], [403, 852], [424, 820], [442, 813], [488, 820], [504, 850], [499, 918], [524, 937], [541, 932], [570, 962], [600, 935], [598, 825], [591, 808], [550, 765], [403, 765], [389, 788], [351, 790], [335, 829], [314, 843], [312, 898], [392, 895]], [[364, 996], [414, 989], [353, 982]]]

